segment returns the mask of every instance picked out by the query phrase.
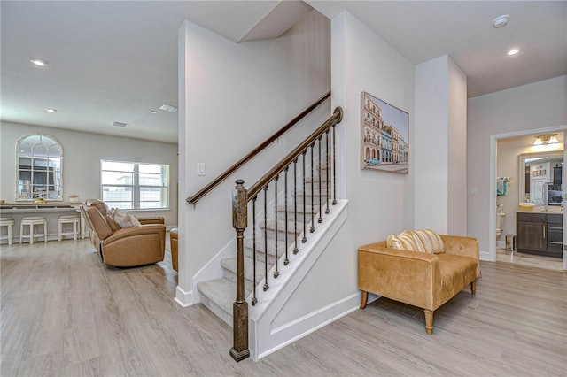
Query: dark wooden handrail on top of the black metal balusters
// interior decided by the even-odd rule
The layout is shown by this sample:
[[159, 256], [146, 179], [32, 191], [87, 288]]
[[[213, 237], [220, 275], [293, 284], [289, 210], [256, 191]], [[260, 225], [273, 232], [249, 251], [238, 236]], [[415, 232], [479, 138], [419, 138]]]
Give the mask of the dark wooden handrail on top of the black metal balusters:
[[304, 150], [307, 150], [307, 147], [309, 147], [309, 145], [315, 143], [315, 140], [319, 139], [319, 137], [327, 132], [330, 127], [333, 127], [336, 124], [340, 123], [342, 119], [343, 109], [337, 107], [335, 109], [335, 112], [333, 112], [333, 115], [329, 119], [327, 119], [321, 127], [317, 128], [313, 134], [309, 135], [309, 137], [305, 139], [304, 142], [300, 143], [296, 149], [292, 150], [290, 154], [285, 156], [276, 166], [271, 168], [268, 173], [264, 174], [264, 176], [260, 178], [259, 181], [254, 183], [254, 185], [247, 190], [248, 200], [258, 195], [260, 190], [268, 186], [268, 183], [273, 181], [279, 173], [282, 173], [286, 166], [289, 166], [291, 162], [293, 162], [296, 158], [299, 158], [299, 155], [303, 153]]

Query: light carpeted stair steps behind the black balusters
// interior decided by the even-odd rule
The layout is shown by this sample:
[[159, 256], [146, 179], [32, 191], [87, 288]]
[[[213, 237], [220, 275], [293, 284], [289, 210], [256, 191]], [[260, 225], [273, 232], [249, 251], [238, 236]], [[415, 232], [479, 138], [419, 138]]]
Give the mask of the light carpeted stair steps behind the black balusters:
[[[285, 258], [285, 250], [288, 250], [288, 258], [293, 258], [293, 248], [291, 245], [295, 243], [295, 205], [294, 200], [297, 201], [297, 231], [298, 231], [298, 245], [299, 252], [308, 252], [302, 249], [303, 229], [307, 232], [307, 237], [311, 234], [311, 221], [312, 216], [315, 221], [314, 227], [319, 219], [319, 186], [321, 186], [321, 207], [322, 218], [324, 218], [325, 209], [327, 208], [327, 167], [325, 165], [318, 165], [316, 168], [317, 175], [311, 178], [310, 174], [306, 177], [305, 182], [305, 196], [303, 191], [303, 181], [298, 181], [298, 190], [291, 190], [290, 198], [287, 206], [285, 204], [277, 205], [277, 233], [276, 233], [276, 219], [268, 219], [266, 222], [262, 220], [259, 222], [260, 232], [256, 232], [256, 252], [254, 255], [254, 242], [252, 238], [245, 239], [245, 296], [249, 297], [253, 289], [253, 258], [256, 258], [256, 292], [263, 290], [265, 273], [268, 271], [268, 284], [269, 281], [274, 279], [274, 274], [270, 270], [276, 263], [276, 239], [277, 239], [277, 257], [278, 259]], [[321, 177], [321, 181], [319, 179]], [[300, 183], [299, 183], [300, 182]], [[299, 189], [299, 184], [301, 189]], [[313, 195], [312, 195], [313, 188]], [[305, 197], [305, 212], [304, 212], [304, 197]], [[313, 212], [312, 212], [313, 204]], [[331, 205], [331, 204], [329, 204]], [[287, 212], [287, 244], [285, 242], [285, 215]], [[305, 223], [303, 221], [305, 213]], [[267, 223], [267, 224], [266, 224]], [[316, 230], [315, 230], [316, 231]], [[267, 235], [267, 238], [263, 238]], [[266, 242], [267, 241], [267, 242]], [[266, 245], [268, 246], [268, 253], [265, 253]], [[266, 268], [266, 262], [268, 268]], [[210, 281], [201, 281], [197, 284], [197, 289], [201, 295], [201, 304], [204, 304], [211, 312], [214, 312], [219, 318], [229, 324], [233, 325], [232, 319], [232, 304], [235, 300], [235, 292], [237, 291], [237, 258], [225, 258], [221, 260], [222, 277]]]

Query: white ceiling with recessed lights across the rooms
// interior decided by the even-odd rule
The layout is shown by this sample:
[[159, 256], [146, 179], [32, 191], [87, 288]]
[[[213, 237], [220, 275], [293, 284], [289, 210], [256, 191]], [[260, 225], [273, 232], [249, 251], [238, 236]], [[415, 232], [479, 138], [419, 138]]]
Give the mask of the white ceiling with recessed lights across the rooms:
[[[448, 54], [468, 76], [469, 97], [567, 74], [567, 1], [306, 3], [330, 18], [348, 10], [414, 64]], [[279, 1], [2, 1], [0, 116], [177, 142], [178, 113], [159, 106], [177, 105], [183, 19], [237, 42], [279, 35], [309, 10]], [[509, 25], [493, 28], [504, 13]], [[522, 50], [507, 57], [510, 47]]]

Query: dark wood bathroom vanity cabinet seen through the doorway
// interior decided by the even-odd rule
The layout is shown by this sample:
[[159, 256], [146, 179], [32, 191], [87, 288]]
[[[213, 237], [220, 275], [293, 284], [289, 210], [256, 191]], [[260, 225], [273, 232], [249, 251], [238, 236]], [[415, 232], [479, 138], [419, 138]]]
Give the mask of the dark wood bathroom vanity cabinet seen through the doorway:
[[516, 212], [517, 251], [562, 258], [563, 213]]

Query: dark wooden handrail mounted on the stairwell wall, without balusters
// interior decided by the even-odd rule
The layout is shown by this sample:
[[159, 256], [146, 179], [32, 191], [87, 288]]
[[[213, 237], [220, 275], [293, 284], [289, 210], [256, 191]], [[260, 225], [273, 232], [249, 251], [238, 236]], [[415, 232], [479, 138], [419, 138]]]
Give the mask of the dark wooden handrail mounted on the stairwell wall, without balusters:
[[268, 139], [266, 139], [265, 142], [262, 142], [259, 146], [257, 146], [253, 150], [251, 150], [249, 153], [247, 153], [245, 155], [245, 157], [240, 158], [235, 164], [231, 165], [227, 170], [225, 170], [223, 173], [221, 173], [221, 175], [216, 177], [213, 181], [211, 181], [209, 184], [207, 184], [204, 188], [201, 188], [200, 190], [198, 190], [198, 192], [195, 195], [189, 196], [187, 198], [187, 203], [193, 204], [193, 205], [197, 204], [198, 200], [201, 197], [206, 196], [206, 194], [208, 194], [211, 190], [213, 190], [213, 188], [217, 187], [221, 183], [221, 181], [224, 181], [225, 179], [227, 179], [230, 174], [236, 172], [242, 165], [245, 165], [245, 163], [247, 163], [249, 160], [251, 160], [258, 153], [260, 153], [260, 151], [262, 151], [266, 147], [268, 147], [269, 144], [271, 144], [272, 142], [275, 142], [281, 135], [283, 135], [291, 127], [295, 126], [299, 122], [299, 120], [305, 118], [309, 112], [313, 112], [320, 104], [325, 102], [329, 97], [330, 97], [330, 91], [327, 92], [321, 98], [319, 98], [317, 101], [315, 101], [313, 104], [309, 105], [309, 107], [307, 107], [307, 109], [305, 109], [303, 112], [300, 112], [297, 117], [291, 119], [291, 121], [289, 123], [287, 123], [285, 126], [283, 126], [279, 131], [277, 131], [276, 134], [268, 137]]

